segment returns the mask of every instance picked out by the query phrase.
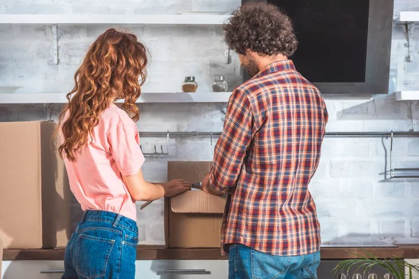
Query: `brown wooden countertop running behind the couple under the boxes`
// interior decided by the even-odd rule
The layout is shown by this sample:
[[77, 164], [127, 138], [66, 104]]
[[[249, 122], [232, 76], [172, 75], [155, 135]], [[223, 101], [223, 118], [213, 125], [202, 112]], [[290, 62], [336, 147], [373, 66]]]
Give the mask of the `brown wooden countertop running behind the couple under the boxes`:
[[[322, 259], [350, 259], [356, 255], [365, 255], [365, 250], [375, 257], [390, 259], [400, 257], [404, 259], [417, 259], [419, 257], [419, 244], [399, 245], [398, 247], [324, 247], [321, 248]], [[55, 249], [6, 249], [3, 251], [3, 260], [62, 260], [64, 248]], [[227, 259], [221, 256], [218, 248], [173, 249], [163, 246], [138, 246], [137, 259]]]

